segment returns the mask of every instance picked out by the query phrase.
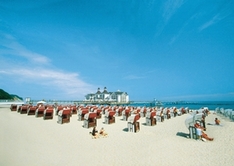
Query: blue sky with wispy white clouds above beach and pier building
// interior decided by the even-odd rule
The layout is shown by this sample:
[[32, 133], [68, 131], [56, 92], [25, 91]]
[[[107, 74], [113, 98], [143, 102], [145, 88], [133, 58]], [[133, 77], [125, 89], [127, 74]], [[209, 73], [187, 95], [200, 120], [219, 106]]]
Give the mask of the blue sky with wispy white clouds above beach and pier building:
[[0, 89], [233, 101], [233, 0], [0, 0]]

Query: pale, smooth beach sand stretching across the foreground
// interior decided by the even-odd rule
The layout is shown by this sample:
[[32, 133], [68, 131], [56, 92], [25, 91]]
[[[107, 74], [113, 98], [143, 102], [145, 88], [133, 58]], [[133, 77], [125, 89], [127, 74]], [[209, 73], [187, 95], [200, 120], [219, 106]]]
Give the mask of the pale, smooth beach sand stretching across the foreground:
[[185, 119], [188, 114], [146, 126], [140, 119], [140, 131], [127, 131], [127, 122], [116, 117], [116, 123], [104, 124], [98, 119], [97, 129], [104, 127], [107, 138], [92, 139], [92, 128], [83, 128], [83, 121], [72, 115], [70, 123], [58, 124], [35, 116], [0, 108], [1, 166], [129, 166], [129, 165], [233, 165], [234, 123], [213, 113], [222, 126], [207, 125], [207, 134], [214, 141], [189, 139]]

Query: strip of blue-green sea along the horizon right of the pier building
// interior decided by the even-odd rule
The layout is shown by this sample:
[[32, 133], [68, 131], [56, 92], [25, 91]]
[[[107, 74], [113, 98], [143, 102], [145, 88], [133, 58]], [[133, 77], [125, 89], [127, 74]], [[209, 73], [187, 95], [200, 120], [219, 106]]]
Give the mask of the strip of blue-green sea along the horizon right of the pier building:
[[[200, 109], [202, 107], [208, 107], [209, 110], [215, 110], [216, 108], [224, 108], [224, 109], [233, 109], [234, 110], [234, 101], [180, 101], [180, 102], [161, 102], [162, 105], [157, 105], [158, 107], [188, 107], [189, 109]], [[145, 103], [133, 103], [130, 104], [132, 106], [140, 106], [140, 107], [153, 107], [155, 104], [152, 102]]]

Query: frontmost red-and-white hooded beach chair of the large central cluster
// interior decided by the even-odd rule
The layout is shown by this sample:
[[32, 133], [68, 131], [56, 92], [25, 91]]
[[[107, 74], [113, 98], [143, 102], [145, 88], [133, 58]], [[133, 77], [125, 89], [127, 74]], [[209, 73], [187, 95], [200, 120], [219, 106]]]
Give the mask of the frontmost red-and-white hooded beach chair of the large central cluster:
[[139, 132], [140, 131], [140, 123], [139, 123], [139, 119], [140, 119], [140, 114], [133, 114], [131, 116], [129, 116], [128, 118], [128, 132]]

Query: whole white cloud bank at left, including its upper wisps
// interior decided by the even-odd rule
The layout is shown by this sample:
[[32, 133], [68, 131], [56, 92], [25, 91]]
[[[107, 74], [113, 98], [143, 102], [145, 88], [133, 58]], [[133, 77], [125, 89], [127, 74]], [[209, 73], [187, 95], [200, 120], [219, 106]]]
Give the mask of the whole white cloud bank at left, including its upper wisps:
[[[85, 94], [94, 90], [93, 86], [83, 81], [77, 73], [55, 69], [46, 56], [30, 51], [11, 35], [3, 36], [5, 38], [0, 39], [0, 76], [3, 84], [15, 81], [35, 88], [50, 87], [53, 92], [63, 94], [64, 98], [84, 98]], [[9, 60], [6, 55], [15, 58]], [[22, 84], [16, 86], [25, 88], [20, 87]]]

